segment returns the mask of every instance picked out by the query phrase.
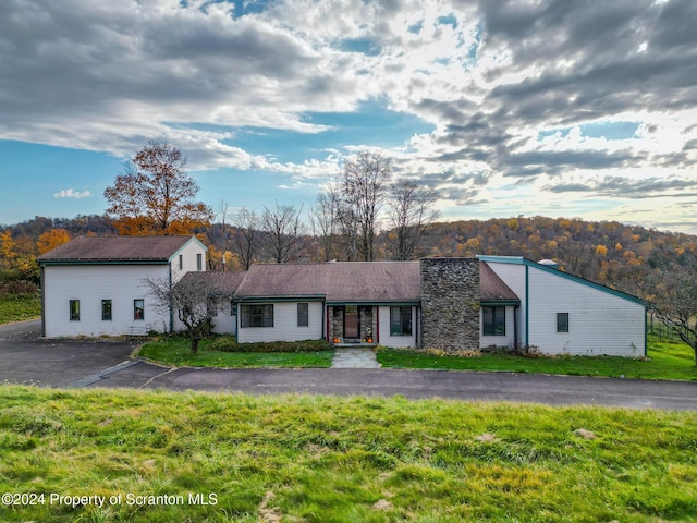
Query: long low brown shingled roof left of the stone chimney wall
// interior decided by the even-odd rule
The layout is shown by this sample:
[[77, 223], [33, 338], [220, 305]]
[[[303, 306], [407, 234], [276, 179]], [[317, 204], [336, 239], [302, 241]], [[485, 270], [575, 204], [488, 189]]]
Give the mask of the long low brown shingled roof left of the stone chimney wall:
[[323, 297], [327, 302], [395, 303], [420, 300], [418, 262], [330, 262], [253, 265], [240, 299]]

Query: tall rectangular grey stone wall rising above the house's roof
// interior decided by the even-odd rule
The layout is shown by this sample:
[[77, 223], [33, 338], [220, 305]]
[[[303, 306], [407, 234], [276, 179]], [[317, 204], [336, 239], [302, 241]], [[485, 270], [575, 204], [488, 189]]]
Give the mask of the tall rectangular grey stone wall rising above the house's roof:
[[479, 260], [423, 258], [421, 345], [479, 350]]

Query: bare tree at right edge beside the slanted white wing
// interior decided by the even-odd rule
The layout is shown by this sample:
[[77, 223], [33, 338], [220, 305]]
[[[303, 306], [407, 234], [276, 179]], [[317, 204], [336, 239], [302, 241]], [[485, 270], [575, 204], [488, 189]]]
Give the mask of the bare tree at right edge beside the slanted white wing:
[[697, 365], [697, 269], [678, 266], [655, 272], [646, 283], [656, 317], [690, 346]]

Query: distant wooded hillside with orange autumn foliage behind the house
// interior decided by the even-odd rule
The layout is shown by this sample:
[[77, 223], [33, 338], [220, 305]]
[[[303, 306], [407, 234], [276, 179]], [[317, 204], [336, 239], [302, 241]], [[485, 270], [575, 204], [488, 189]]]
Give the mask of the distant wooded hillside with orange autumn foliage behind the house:
[[[35, 257], [41, 246], [51, 246], [47, 233], [62, 229], [70, 238], [84, 234], [115, 234], [112, 220], [91, 215], [71, 219], [36, 217], [1, 228], [0, 262]], [[233, 251], [240, 231], [220, 223], [198, 231], [211, 253]], [[377, 239], [377, 257], [386, 259], [392, 231]], [[319, 239], [298, 239], [297, 259], [320, 260]], [[637, 285], [652, 271], [670, 271], [678, 265], [697, 263], [697, 236], [658, 231], [616, 221], [516, 217], [490, 220], [439, 222], [429, 226], [416, 256], [474, 256], [475, 254], [524, 256], [533, 260], [550, 258], [560, 269], [626, 292], [639, 293]], [[267, 262], [266, 259], [258, 259]], [[211, 264], [212, 268], [219, 265]], [[239, 267], [234, 256], [229, 268]]]

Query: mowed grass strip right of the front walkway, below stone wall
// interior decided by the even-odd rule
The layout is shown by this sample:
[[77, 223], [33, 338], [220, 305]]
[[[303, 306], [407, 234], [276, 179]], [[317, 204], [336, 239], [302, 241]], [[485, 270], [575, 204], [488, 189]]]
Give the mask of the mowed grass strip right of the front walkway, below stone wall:
[[476, 357], [433, 356], [426, 352], [381, 349], [378, 362], [391, 368], [440, 368], [572, 376], [606, 376], [697, 381], [693, 350], [684, 343], [649, 340], [648, 360], [629, 357], [524, 357], [492, 353]]

